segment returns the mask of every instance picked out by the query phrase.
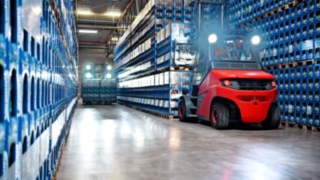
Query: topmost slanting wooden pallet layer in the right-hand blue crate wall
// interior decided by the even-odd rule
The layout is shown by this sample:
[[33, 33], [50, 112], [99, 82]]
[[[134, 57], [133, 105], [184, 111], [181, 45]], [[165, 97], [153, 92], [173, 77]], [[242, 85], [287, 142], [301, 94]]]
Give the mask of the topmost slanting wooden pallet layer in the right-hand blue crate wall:
[[256, 21], [260, 21], [261, 19], [264, 19], [264, 18], [267, 18], [268, 16], [271, 16], [271, 15], [274, 15], [276, 13], [280, 13], [286, 9], [289, 9], [289, 8], [293, 8], [295, 7], [298, 3], [302, 2], [302, 1], [305, 1], [305, 0], [292, 0], [291, 2], [287, 3], [287, 4], [284, 4], [274, 10], [271, 10], [269, 12], [266, 12], [265, 14], [261, 14], [260, 16], [258, 17], [255, 17], [247, 22], [244, 22], [241, 24], [241, 26], [246, 26], [252, 22], [256, 22]]

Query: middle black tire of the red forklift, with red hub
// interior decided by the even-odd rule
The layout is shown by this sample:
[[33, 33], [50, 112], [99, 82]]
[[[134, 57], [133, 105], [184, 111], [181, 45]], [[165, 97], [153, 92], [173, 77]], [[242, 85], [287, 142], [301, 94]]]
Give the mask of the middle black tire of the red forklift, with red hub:
[[213, 102], [210, 110], [210, 122], [215, 129], [226, 129], [229, 126], [230, 110], [221, 102]]

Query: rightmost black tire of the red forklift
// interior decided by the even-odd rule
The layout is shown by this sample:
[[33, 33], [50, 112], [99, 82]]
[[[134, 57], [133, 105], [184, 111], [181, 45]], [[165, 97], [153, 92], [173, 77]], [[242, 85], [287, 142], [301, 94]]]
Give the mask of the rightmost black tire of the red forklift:
[[280, 107], [276, 104], [272, 104], [267, 119], [262, 122], [264, 129], [278, 129], [281, 123], [281, 111]]

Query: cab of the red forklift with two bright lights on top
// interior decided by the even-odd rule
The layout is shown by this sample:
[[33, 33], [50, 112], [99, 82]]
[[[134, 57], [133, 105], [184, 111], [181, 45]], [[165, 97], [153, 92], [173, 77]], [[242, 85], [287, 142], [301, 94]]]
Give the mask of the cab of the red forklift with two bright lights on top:
[[212, 69], [221, 70], [262, 70], [258, 35], [230, 34], [219, 37], [208, 36], [207, 49], [199, 49], [193, 75], [192, 95]]

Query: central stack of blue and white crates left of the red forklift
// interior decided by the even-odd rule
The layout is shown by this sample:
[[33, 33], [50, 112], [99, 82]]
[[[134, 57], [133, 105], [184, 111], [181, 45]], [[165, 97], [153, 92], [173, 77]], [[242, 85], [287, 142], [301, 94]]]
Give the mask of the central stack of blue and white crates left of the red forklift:
[[[182, 2], [182, 1], [181, 1]], [[190, 89], [193, 58], [188, 37], [193, 9], [183, 3], [150, 1], [115, 49], [118, 102], [153, 113], [176, 116], [178, 97]], [[178, 39], [184, 39], [179, 42]], [[176, 57], [181, 54], [181, 60]], [[180, 55], [179, 55], [180, 57]]]

